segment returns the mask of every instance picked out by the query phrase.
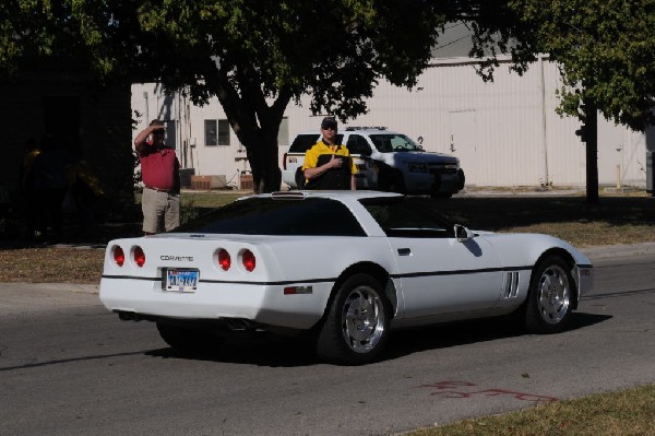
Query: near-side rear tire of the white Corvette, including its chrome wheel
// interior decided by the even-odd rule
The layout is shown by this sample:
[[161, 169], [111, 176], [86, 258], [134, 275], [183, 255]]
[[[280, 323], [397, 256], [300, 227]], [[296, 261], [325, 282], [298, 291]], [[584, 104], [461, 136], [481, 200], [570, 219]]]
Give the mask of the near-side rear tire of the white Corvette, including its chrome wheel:
[[317, 339], [317, 354], [340, 365], [378, 360], [389, 339], [391, 307], [383, 285], [355, 274], [337, 290]]

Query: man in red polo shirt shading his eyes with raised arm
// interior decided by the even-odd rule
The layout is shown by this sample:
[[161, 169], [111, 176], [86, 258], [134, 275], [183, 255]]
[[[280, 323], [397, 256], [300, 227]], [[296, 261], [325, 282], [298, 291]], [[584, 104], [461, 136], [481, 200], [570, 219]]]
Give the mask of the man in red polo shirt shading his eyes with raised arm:
[[164, 121], [153, 120], [134, 139], [143, 179], [143, 232], [152, 235], [180, 225], [180, 163], [166, 146]]

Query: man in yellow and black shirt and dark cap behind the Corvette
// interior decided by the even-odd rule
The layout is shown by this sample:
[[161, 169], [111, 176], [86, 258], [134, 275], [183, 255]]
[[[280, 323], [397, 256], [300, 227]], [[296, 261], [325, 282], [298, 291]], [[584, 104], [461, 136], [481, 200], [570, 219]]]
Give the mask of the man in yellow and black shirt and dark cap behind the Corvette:
[[348, 149], [336, 143], [336, 119], [323, 118], [321, 139], [305, 153], [301, 170], [306, 189], [357, 189], [357, 166]]

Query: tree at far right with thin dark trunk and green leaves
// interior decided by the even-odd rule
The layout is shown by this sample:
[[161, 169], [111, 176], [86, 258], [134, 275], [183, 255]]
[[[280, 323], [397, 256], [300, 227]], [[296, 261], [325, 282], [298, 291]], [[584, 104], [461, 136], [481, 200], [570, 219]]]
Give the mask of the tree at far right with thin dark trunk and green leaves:
[[655, 123], [655, 0], [511, 0], [534, 52], [559, 64], [562, 114], [586, 142], [587, 200], [598, 201], [596, 110], [643, 131]]

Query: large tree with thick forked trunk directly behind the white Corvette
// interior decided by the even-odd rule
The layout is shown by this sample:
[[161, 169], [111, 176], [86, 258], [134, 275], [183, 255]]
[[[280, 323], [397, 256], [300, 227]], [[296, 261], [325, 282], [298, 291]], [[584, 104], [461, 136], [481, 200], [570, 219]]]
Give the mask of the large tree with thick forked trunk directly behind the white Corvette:
[[[342, 120], [365, 113], [379, 80], [416, 83], [445, 22], [425, 0], [58, 4], [10, 1], [17, 15], [4, 16], [9, 35], [29, 38], [4, 40], [4, 54], [34, 43], [40, 52], [74, 47], [107, 78], [157, 80], [195, 103], [216, 96], [247, 150], [255, 191], [279, 188], [277, 132], [289, 102], [309, 94], [314, 113]], [[33, 27], [29, 17], [38, 17]]]

